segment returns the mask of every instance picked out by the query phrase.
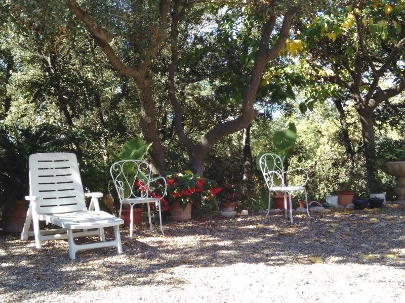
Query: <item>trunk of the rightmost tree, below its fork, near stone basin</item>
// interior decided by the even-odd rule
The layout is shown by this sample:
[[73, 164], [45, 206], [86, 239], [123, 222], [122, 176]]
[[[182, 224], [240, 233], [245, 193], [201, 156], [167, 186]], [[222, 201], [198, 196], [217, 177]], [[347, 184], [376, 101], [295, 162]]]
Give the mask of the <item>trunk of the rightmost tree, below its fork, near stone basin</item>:
[[367, 182], [370, 191], [379, 191], [381, 181], [376, 175], [376, 143], [373, 128], [373, 110], [361, 106], [356, 107], [363, 137], [364, 157], [366, 160]]

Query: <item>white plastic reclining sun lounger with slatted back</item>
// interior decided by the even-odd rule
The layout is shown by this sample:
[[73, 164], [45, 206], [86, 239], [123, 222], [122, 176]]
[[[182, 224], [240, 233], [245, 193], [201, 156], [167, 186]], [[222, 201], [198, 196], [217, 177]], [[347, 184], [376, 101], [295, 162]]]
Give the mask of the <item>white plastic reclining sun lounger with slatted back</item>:
[[[116, 247], [121, 254], [119, 225], [124, 220], [100, 211], [100, 192], [84, 193], [76, 155], [70, 153], [33, 154], [29, 156], [29, 196], [27, 218], [21, 239], [35, 237], [36, 248], [44, 240], [66, 239], [69, 241], [69, 257], [74, 260], [76, 251], [100, 247]], [[89, 209], [85, 197], [91, 197]], [[28, 231], [33, 221], [34, 231]], [[46, 221], [61, 228], [39, 229], [39, 221]], [[105, 241], [104, 227], [113, 227], [114, 240]], [[75, 244], [73, 238], [98, 235], [100, 242]]]

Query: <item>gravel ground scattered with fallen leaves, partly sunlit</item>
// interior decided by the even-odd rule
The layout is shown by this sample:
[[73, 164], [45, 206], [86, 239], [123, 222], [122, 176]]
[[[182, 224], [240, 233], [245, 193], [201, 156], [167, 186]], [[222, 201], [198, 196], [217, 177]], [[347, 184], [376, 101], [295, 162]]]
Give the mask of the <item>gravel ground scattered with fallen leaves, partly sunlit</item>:
[[143, 223], [132, 240], [122, 226], [123, 254], [75, 261], [65, 240], [3, 234], [0, 301], [405, 302], [404, 207], [311, 215]]

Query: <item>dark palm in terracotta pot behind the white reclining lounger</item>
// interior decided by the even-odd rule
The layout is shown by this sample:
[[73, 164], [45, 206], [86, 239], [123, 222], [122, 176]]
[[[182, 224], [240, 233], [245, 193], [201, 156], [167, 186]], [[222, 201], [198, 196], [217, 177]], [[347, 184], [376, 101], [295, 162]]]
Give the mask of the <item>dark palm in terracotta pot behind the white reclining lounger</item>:
[[51, 125], [0, 128], [0, 219], [4, 230], [21, 232], [28, 204], [28, 158], [35, 153], [55, 151], [66, 136]]

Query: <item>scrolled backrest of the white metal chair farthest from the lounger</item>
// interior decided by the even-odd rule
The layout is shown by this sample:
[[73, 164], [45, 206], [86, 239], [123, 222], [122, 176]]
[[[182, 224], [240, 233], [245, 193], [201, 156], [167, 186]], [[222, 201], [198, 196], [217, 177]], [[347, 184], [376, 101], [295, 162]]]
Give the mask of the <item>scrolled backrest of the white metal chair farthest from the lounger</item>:
[[284, 167], [280, 156], [275, 154], [264, 154], [259, 160], [260, 170], [268, 188], [285, 186]]

